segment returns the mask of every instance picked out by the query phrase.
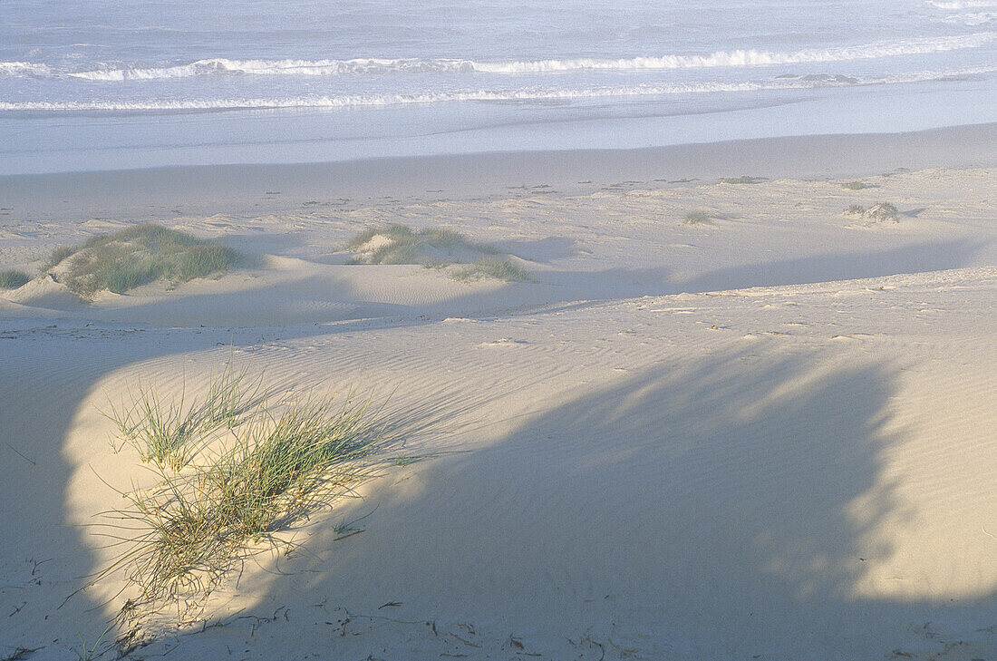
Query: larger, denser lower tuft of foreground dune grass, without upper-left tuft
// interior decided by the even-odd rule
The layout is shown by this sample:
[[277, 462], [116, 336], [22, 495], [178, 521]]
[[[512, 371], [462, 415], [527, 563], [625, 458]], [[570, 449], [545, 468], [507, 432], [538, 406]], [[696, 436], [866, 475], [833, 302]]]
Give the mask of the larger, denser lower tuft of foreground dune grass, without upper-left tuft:
[[143, 597], [206, 596], [252, 544], [348, 494], [372, 446], [364, 410], [319, 400], [258, 416], [207, 464], [129, 495], [126, 513], [146, 530], [129, 557]]

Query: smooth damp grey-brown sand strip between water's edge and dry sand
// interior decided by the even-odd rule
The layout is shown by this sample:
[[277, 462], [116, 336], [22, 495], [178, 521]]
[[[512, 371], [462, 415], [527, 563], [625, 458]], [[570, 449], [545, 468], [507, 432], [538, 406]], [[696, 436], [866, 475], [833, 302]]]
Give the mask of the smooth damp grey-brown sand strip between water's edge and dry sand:
[[0, 175], [8, 217], [279, 211], [305, 200], [452, 199], [545, 186], [578, 193], [628, 180], [862, 176], [997, 165], [997, 123], [900, 134], [816, 135], [639, 150], [507, 152], [291, 165], [183, 165]]

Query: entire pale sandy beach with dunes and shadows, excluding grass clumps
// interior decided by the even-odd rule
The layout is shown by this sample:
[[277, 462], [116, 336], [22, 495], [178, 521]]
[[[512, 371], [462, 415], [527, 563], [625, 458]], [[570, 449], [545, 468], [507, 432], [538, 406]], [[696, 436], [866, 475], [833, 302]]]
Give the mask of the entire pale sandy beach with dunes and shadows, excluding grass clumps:
[[[3, 267], [150, 219], [262, 255], [93, 301], [0, 291], [0, 658], [116, 657], [124, 575], [70, 597], [114, 555], [87, 524], [144, 475], [100, 410], [230, 355], [359, 388], [392, 452], [432, 457], [129, 658], [997, 657], [993, 138], [219, 167], [187, 195], [203, 170], [0, 178]], [[842, 214], [879, 201], [895, 221]], [[347, 263], [388, 222], [534, 281]]]

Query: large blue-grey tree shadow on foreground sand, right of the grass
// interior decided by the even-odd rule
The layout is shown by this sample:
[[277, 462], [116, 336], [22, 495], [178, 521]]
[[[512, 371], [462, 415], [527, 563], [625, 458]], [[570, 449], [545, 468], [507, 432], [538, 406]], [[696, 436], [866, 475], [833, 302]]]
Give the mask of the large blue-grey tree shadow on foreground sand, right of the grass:
[[[662, 361], [473, 452], [399, 469], [337, 512], [376, 504], [364, 534], [337, 540], [317, 522], [312, 555], [243, 583], [266, 623], [254, 650], [817, 661], [962, 658], [945, 656], [958, 641], [982, 657], [993, 593], [860, 589], [914, 513], [883, 473], [902, 442], [896, 378], [815, 354]], [[293, 624], [269, 618], [280, 608]], [[178, 644], [223, 651], [245, 635], [231, 628]]]

